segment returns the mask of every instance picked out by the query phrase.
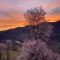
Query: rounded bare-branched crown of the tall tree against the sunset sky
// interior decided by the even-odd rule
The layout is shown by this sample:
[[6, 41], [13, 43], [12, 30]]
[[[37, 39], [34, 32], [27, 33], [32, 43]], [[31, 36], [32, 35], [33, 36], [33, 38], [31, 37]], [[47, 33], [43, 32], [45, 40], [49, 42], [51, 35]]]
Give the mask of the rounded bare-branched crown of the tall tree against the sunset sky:
[[27, 22], [30, 25], [40, 24], [42, 21], [45, 21], [45, 11], [41, 7], [34, 7], [33, 9], [27, 10], [24, 14]]

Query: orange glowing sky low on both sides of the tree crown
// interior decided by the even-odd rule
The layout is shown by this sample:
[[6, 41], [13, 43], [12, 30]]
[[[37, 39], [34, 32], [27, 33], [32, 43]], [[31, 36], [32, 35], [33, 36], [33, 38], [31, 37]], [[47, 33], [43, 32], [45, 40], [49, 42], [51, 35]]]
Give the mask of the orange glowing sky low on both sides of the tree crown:
[[[48, 22], [55, 22], [60, 19], [60, 14], [46, 16], [45, 18], [46, 18], [46, 21]], [[12, 29], [16, 27], [23, 27], [26, 25], [27, 25], [27, 22], [22, 13], [11, 14], [9, 18], [7, 17], [0, 18], [0, 31]]]

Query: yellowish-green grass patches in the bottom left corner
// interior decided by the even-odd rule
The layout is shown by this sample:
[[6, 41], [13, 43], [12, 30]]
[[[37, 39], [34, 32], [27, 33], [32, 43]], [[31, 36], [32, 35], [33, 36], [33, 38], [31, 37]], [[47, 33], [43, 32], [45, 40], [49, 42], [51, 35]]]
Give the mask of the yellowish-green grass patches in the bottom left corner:
[[[15, 60], [17, 55], [18, 55], [18, 51], [13, 51], [13, 50], [9, 51], [9, 58], [11, 60]], [[7, 52], [6, 51], [2, 52], [2, 59], [3, 60], [7, 59]]]

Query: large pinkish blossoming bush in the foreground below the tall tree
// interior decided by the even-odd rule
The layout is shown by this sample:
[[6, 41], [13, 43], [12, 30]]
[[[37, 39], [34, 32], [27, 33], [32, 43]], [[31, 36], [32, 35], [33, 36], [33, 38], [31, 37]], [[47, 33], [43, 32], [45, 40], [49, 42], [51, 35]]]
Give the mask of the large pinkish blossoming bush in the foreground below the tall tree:
[[20, 60], [60, 60], [60, 55], [49, 50], [45, 42], [32, 40], [24, 42]]

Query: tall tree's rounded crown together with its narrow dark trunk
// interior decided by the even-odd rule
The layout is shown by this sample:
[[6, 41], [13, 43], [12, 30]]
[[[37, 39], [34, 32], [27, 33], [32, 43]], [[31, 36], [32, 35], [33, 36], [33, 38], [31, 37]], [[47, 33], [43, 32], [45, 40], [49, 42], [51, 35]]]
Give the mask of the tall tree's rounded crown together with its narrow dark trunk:
[[33, 26], [32, 32], [35, 40], [37, 39], [39, 30], [37, 25], [46, 21], [44, 18], [45, 14], [45, 11], [41, 7], [34, 7], [33, 9], [27, 10], [24, 14], [26, 21]]

